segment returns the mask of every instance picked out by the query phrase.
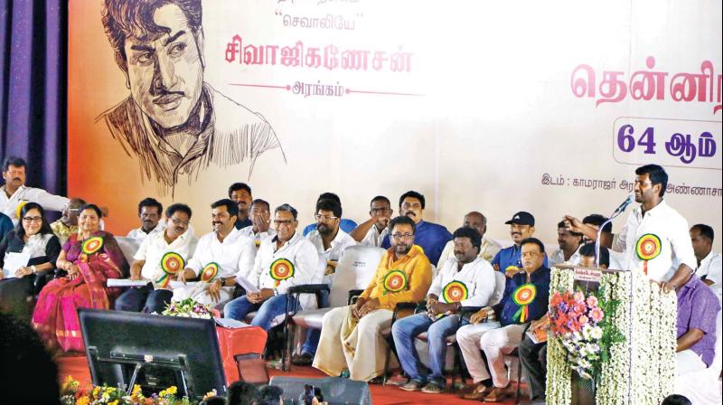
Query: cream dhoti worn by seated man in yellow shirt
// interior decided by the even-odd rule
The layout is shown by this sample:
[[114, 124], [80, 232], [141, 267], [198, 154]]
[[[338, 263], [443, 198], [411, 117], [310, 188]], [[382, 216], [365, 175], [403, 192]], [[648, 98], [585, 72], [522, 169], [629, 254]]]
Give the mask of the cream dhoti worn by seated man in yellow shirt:
[[[314, 367], [334, 377], [349, 370], [349, 377], [355, 381], [380, 376], [388, 347], [381, 332], [390, 328], [392, 315], [388, 309], [377, 309], [356, 322], [352, 306], [329, 311], [324, 315]], [[393, 358], [390, 364], [397, 366]]]

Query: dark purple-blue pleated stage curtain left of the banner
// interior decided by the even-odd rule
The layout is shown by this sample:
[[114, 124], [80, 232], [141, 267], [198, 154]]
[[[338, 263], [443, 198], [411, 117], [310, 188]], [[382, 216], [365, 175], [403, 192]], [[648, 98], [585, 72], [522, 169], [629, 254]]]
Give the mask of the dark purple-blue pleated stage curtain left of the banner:
[[25, 184], [63, 195], [67, 9], [67, 0], [0, 0], [0, 157], [23, 157]]

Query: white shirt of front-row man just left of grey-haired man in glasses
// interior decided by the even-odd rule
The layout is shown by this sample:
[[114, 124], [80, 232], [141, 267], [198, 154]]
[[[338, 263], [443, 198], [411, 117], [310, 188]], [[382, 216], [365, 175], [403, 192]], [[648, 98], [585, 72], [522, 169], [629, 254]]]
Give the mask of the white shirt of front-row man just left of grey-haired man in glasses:
[[231, 276], [249, 278], [255, 258], [254, 242], [234, 228], [222, 242], [219, 241], [216, 232], [203, 235], [186, 268], [192, 269], [198, 276], [204, 267], [215, 262], [219, 265], [219, 274], [216, 278]]

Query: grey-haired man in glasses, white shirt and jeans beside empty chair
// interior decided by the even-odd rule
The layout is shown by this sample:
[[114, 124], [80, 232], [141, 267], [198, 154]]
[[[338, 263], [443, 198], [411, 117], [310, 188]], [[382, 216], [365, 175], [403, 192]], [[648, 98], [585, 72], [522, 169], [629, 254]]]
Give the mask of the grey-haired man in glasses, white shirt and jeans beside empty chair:
[[[279, 315], [286, 312], [286, 290], [304, 284], [321, 283], [323, 274], [317, 271], [319, 254], [314, 245], [296, 231], [296, 209], [289, 204], [279, 205], [274, 212], [277, 235], [261, 241], [249, 282], [258, 292], [247, 292], [226, 304], [227, 318], [243, 321], [249, 312], [258, 311], [251, 325], [265, 330]], [[309, 307], [311, 297], [301, 297], [301, 307]]]

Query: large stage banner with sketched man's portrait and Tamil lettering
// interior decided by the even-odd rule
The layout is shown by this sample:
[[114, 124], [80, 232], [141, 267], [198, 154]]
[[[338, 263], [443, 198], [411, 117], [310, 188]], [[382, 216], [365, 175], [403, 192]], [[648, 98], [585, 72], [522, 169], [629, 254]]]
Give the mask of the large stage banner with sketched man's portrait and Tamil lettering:
[[524, 210], [555, 243], [657, 163], [671, 206], [720, 234], [719, 1], [174, 3], [70, 2], [69, 190], [110, 231], [146, 196], [208, 231], [248, 182], [302, 224], [319, 193], [361, 222], [417, 190], [451, 231], [478, 210], [509, 239]]

